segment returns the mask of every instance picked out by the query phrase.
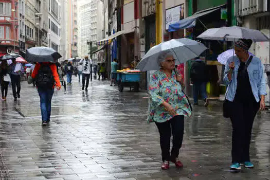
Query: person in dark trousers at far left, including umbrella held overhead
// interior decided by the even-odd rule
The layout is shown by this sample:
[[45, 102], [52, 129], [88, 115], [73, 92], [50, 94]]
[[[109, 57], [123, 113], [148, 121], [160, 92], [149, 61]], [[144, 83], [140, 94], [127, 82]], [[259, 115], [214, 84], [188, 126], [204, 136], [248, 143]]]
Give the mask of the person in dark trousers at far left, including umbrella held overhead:
[[3, 60], [12, 60], [12, 64], [10, 64], [10, 78], [11, 78], [11, 86], [12, 86], [12, 93], [14, 97], [14, 101], [17, 100], [17, 98], [21, 98], [20, 92], [21, 92], [21, 76], [24, 73], [24, 68], [21, 63], [16, 62], [16, 58], [21, 57], [17, 53], [11, 53], [8, 55], [4, 55], [2, 58]]

